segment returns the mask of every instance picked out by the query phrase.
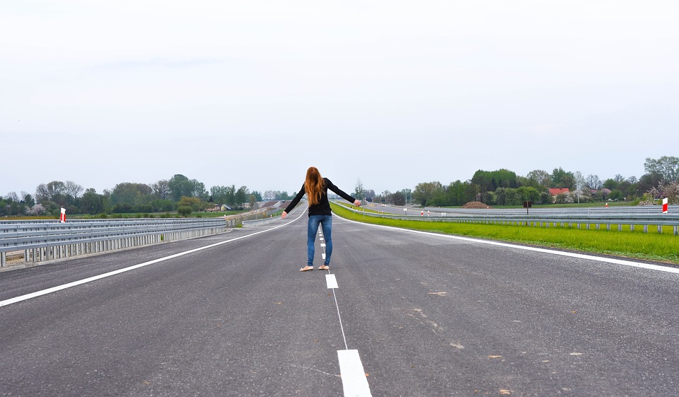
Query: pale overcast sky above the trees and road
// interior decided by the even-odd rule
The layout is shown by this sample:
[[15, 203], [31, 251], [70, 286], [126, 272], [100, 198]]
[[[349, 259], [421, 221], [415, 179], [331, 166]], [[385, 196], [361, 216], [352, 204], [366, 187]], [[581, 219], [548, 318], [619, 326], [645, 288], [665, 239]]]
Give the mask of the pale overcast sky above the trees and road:
[[0, 195], [640, 177], [679, 156], [679, 1], [4, 1]]

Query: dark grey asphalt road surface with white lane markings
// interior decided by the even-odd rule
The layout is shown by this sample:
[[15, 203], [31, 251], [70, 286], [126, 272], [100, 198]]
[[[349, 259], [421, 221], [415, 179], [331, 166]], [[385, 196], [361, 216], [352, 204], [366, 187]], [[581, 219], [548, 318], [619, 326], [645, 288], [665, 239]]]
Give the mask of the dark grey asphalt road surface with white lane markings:
[[679, 396], [676, 269], [333, 223], [1, 272], [0, 396]]

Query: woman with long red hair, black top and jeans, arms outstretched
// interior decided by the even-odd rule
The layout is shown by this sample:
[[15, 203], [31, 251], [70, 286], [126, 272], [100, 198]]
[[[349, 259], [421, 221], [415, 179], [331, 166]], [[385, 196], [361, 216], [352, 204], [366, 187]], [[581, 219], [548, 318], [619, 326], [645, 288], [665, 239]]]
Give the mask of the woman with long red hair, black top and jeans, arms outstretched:
[[309, 223], [306, 229], [306, 255], [308, 257], [306, 266], [299, 271], [306, 272], [313, 270], [313, 255], [315, 253], [314, 241], [316, 239], [316, 232], [320, 224], [323, 229], [323, 237], [325, 238], [325, 263], [319, 266], [318, 270], [328, 270], [330, 265], [330, 255], [332, 255], [332, 212], [330, 212], [330, 202], [327, 201], [327, 190], [330, 189], [337, 193], [344, 200], [353, 202], [354, 205], [360, 206], [361, 202], [354, 197], [342, 192], [340, 188], [333, 185], [329, 179], [320, 176], [320, 172], [315, 167], [309, 167], [306, 170], [306, 179], [302, 185], [301, 190], [297, 193], [290, 205], [285, 209], [281, 215], [282, 219], [290, 212], [306, 194], [309, 201]]

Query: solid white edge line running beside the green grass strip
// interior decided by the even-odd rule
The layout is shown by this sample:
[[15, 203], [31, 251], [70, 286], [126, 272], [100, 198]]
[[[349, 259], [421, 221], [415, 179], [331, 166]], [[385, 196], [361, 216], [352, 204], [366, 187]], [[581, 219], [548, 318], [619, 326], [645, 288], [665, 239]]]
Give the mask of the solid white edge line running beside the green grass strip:
[[[339, 217], [339, 215], [335, 215]], [[461, 236], [451, 236], [450, 234], [436, 234], [436, 233], [431, 233], [429, 231], [419, 231], [419, 230], [410, 230], [410, 229], [400, 229], [394, 226], [384, 226], [384, 225], [376, 225], [376, 224], [364, 224], [363, 222], [359, 221], [352, 221], [351, 219], [346, 219], [342, 218], [345, 221], [349, 222], [354, 222], [356, 224], [362, 224], [366, 226], [374, 226], [374, 227], [381, 227], [384, 229], [393, 229], [393, 230], [398, 230], [398, 231], [405, 231], [407, 233], [415, 233], [415, 234], [425, 234], [426, 236], [437, 236], [437, 237], [443, 237], [443, 238], [451, 238], [453, 240], [462, 240], [462, 241], [470, 241], [472, 243], [481, 243], [481, 244], [489, 244], [491, 246], [500, 246], [500, 247], [506, 247], [506, 248], [516, 248], [519, 250], [526, 250], [526, 251], [535, 251], [535, 252], [540, 252], [540, 253], [551, 253], [553, 255], [562, 255], [562, 256], [568, 256], [570, 258], [579, 258], [579, 259], [586, 259], [586, 260], [596, 260], [598, 262], [604, 262], [604, 263], [613, 263], [615, 265], [624, 265], [624, 266], [631, 266], [631, 267], [641, 267], [643, 269], [649, 269], [649, 270], [658, 270], [660, 272], [668, 272], [668, 273], [677, 273], [679, 274], [679, 268], [677, 267], [669, 267], [669, 266], [660, 266], [660, 265], [651, 265], [649, 263], [640, 263], [640, 262], [633, 262], [632, 260], [624, 260], [624, 259], [615, 259], [615, 258], [603, 258], [600, 256], [594, 256], [594, 255], [587, 255], [587, 254], [582, 254], [582, 253], [571, 253], [571, 252], [564, 252], [564, 251], [554, 251], [550, 250], [549, 248], [537, 248], [537, 247], [528, 247], [528, 246], [516, 246], [511, 243], [500, 243], [499, 241], [487, 241], [487, 240], [480, 240], [477, 238], [470, 238], [470, 237], [461, 237]]]

